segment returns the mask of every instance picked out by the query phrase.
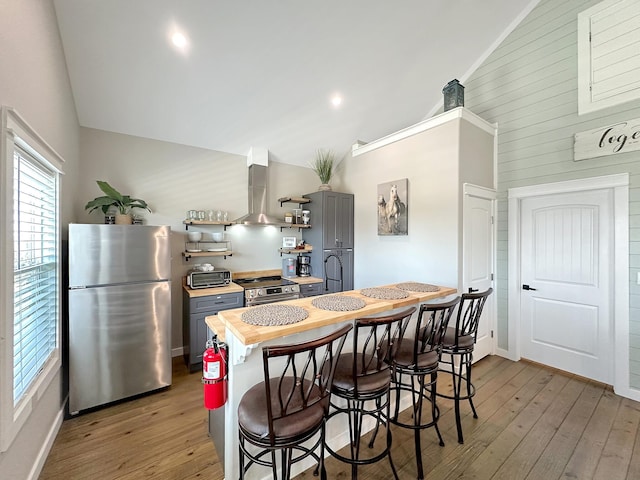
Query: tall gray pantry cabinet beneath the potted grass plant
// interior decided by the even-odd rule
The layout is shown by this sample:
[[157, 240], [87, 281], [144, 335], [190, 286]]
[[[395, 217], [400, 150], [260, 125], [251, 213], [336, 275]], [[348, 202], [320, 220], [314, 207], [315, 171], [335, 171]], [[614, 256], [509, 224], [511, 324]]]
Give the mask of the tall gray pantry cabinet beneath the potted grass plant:
[[313, 246], [311, 274], [322, 278], [320, 293], [353, 290], [353, 194], [319, 191], [304, 195], [311, 228], [302, 232]]

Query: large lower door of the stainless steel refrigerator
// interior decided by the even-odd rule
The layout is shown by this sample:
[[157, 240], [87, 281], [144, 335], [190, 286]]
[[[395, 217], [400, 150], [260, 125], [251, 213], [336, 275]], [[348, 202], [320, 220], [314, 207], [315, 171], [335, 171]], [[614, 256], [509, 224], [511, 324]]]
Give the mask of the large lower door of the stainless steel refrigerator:
[[71, 290], [69, 312], [71, 414], [171, 385], [170, 282]]

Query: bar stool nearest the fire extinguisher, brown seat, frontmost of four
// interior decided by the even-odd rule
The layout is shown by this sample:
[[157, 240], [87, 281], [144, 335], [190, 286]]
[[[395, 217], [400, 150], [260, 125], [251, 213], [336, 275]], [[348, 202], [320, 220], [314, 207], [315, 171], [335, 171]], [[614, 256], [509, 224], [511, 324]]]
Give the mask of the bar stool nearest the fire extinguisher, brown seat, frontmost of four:
[[[326, 480], [324, 436], [331, 383], [352, 328], [345, 325], [316, 340], [262, 349], [264, 381], [251, 387], [238, 405], [241, 480], [253, 464], [271, 467], [277, 479], [278, 451], [283, 480], [291, 478], [292, 463], [308, 456], [316, 459], [315, 473], [319, 469]], [[311, 446], [303, 445], [317, 434]], [[319, 454], [315, 453], [318, 447]]]

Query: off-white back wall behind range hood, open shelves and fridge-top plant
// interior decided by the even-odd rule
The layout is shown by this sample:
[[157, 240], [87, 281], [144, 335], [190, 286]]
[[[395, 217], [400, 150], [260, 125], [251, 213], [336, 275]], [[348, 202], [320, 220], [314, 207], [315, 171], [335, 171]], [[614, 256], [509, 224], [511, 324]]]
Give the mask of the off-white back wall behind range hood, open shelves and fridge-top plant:
[[[276, 227], [240, 226], [227, 229], [233, 256], [199, 257], [188, 262], [186, 230], [182, 221], [187, 210], [226, 210], [229, 219], [248, 211], [247, 158], [175, 143], [133, 137], [89, 128], [81, 129], [81, 177], [76, 214], [79, 222], [102, 223], [102, 211], [88, 214], [87, 201], [102, 195], [96, 180], [106, 180], [123, 194], [144, 199], [152, 213], [137, 211], [150, 225], [172, 229], [173, 325], [171, 343], [180, 348], [182, 339], [182, 277], [194, 263], [209, 262], [234, 271], [279, 269], [278, 248], [283, 236], [297, 236], [297, 230]], [[269, 213], [281, 217], [297, 207], [280, 207], [278, 198], [302, 196], [315, 191], [319, 181], [312, 170], [270, 161], [268, 170]], [[189, 231], [219, 232], [222, 227], [190, 227]], [[175, 352], [174, 352], [175, 353]]]

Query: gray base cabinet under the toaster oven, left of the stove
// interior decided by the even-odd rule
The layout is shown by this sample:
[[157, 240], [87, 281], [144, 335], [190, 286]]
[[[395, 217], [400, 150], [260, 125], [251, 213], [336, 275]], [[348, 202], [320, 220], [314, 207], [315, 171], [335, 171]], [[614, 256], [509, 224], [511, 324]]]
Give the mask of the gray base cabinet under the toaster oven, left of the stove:
[[188, 292], [183, 291], [182, 348], [190, 372], [202, 369], [202, 354], [211, 335], [204, 321], [205, 317], [216, 315], [222, 310], [240, 308], [243, 303], [242, 293], [190, 297]]

